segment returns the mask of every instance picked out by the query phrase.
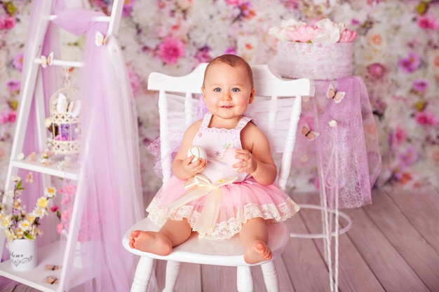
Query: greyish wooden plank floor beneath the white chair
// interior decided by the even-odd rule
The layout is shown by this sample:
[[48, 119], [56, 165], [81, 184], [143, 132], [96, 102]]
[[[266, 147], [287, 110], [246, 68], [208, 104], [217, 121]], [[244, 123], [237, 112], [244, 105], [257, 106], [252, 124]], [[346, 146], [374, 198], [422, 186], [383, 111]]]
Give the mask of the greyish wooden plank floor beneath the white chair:
[[[302, 204], [318, 202], [316, 194], [295, 194]], [[351, 230], [339, 237], [339, 291], [439, 291], [439, 192], [374, 190], [373, 204], [345, 209]], [[344, 222], [342, 221], [342, 224]], [[320, 211], [302, 209], [288, 221], [292, 232], [320, 232]], [[333, 245], [333, 244], [332, 244]], [[322, 239], [292, 238], [275, 263], [281, 292], [330, 291]], [[266, 291], [259, 268], [252, 270], [255, 292]], [[157, 281], [163, 288], [163, 263]], [[236, 291], [234, 268], [182, 264], [179, 292]], [[34, 292], [18, 285], [0, 292]]]

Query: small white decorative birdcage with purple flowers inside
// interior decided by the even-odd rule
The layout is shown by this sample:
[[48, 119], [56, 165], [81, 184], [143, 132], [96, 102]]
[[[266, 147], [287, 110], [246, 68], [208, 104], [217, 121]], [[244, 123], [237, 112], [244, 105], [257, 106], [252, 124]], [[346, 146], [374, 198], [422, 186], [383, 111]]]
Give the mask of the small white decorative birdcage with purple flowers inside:
[[55, 154], [79, 153], [81, 127], [79, 91], [69, 86], [61, 88], [50, 97], [48, 129], [51, 134], [52, 150]]

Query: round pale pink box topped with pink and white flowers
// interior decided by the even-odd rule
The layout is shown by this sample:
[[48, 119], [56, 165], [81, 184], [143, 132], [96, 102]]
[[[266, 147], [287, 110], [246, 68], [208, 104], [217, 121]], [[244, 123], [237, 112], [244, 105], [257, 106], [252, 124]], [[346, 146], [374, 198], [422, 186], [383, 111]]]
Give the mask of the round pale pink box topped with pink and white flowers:
[[286, 78], [332, 80], [352, 75], [353, 41], [357, 34], [325, 18], [307, 24], [284, 20], [271, 27], [278, 39], [273, 69]]

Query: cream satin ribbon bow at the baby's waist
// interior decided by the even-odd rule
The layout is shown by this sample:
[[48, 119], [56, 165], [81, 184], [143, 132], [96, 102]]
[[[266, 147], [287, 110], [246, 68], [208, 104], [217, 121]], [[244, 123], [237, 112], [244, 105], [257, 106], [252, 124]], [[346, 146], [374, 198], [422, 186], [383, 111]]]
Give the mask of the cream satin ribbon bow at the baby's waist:
[[238, 176], [230, 176], [219, 179], [215, 181], [215, 183], [210, 183], [210, 180], [204, 174], [196, 174], [184, 183], [184, 189], [187, 191], [174, 202], [170, 203], [168, 207], [173, 209], [179, 208], [184, 206], [184, 204], [207, 195], [203, 210], [193, 229], [200, 234], [212, 232], [215, 229], [219, 214], [221, 187], [230, 185], [237, 179]]

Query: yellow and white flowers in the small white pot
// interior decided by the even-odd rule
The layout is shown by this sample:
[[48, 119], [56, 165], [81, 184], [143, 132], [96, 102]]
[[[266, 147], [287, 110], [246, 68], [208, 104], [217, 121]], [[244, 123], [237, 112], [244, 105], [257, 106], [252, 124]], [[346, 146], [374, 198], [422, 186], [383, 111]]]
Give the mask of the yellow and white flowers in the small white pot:
[[39, 228], [40, 220], [48, 215], [48, 201], [56, 196], [56, 189], [48, 187], [44, 190], [44, 195], [36, 200], [35, 208], [32, 212], [27, 213], [25, 207], [22, 207], [22, 200], [20, 195], [22, 190], [22, 179], [20, 177], [13, 178], [14, 189], [8, 190], [4, 193], [4, 202], [9, 200], [12, 205], [11, 209], [6, 207], [6, 204], [0, 204], [0, 228], [4, 230], [4, 235], [8, 242], [15, 239], [36, 239], [37, 235], [42, 235], [43, 232]]

